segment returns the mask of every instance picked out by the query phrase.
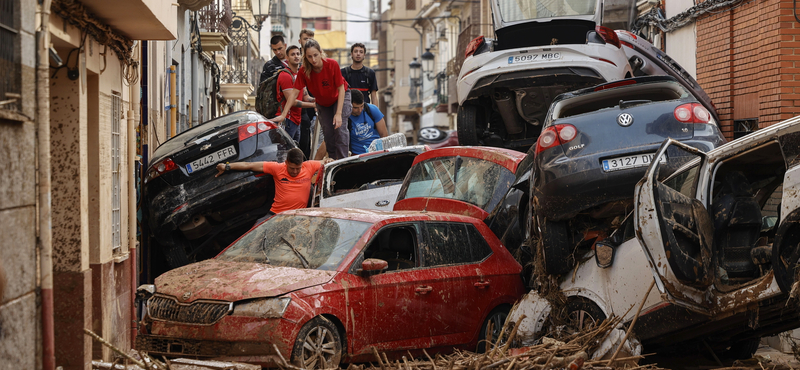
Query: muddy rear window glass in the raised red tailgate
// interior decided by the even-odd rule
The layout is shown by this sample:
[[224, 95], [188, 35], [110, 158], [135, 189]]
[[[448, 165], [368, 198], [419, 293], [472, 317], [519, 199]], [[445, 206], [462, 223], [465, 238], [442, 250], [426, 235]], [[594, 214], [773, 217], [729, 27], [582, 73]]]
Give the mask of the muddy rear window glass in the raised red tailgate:
[[411, 168], [397, 200], [456, 199], [489, 212], [513, 182], [511, 171], [491, 161], [461, 156], [431, 158]]

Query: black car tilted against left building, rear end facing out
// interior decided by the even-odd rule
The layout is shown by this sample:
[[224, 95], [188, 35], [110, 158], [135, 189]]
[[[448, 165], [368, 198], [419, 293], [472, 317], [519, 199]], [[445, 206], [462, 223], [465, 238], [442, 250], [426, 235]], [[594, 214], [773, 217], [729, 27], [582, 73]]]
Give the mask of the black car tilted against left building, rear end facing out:
[[272, 206], [272, 176], [214, 177], [217, 163], [283, 162], [294, 147], [283, 129], [253, 111], [205, 122], [159, 146], [144, 180], [151, 276], [213, 257]]

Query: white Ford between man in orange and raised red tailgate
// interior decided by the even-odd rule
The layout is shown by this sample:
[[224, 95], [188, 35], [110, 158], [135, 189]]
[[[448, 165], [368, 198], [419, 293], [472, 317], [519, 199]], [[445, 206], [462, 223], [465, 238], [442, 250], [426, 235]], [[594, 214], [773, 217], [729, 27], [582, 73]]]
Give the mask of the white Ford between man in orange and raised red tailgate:
[[342, 158], [325, 165], [320, 207], [391, 210], [414, 158], [424, 145], [403, 146]]

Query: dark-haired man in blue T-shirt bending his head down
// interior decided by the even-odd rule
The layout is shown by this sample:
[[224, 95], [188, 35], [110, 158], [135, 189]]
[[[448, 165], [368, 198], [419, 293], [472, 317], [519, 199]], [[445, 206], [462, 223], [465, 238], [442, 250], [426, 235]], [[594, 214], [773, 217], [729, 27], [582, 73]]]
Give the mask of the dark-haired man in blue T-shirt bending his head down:
[[350, 113], [350, 152], [364, 154], [375, 139], [389, 135], [383, 113], [377, 106], [364, 103], [364, 95], [356, 89], [350, 90], [353, 112]]

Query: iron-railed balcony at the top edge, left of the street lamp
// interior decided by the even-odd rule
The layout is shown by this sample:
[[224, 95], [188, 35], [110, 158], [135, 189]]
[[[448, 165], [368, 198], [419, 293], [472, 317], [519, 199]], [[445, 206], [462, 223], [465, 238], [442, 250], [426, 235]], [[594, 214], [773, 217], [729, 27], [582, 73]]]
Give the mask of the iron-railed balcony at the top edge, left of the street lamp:
[[230, 0], [213, 0], [197, 12], [203, 51], [225, 51], [225, 47], [231, 42], [228, 31], [232, 16]]

